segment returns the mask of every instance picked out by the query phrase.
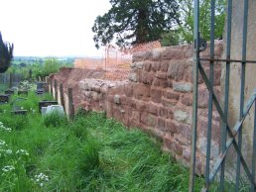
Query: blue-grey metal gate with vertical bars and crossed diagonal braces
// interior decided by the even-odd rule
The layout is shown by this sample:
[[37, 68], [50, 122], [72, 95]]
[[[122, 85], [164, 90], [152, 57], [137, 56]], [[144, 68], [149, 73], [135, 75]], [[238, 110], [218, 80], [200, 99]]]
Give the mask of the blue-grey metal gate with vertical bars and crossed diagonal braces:
[[[194, 0], [194, 26], [193, 26], [193, 39], [194, 39], [194, 62], [193, 62], [193, 106], [192, 106], [192, 157], [191, 157], [191, 174], [190, 174], [190, 191], [194, 191], [194, 180], [195, 180], [195, 152], [196, 152], [196, 127], [197, 127], [197, 93], [198, 93], [198, 75], [200, 73], [207, 89], [209, 92], [208, 97], [208, 125], [207, 125], [207, 144], [206, 144], [206, 159], [205, 159], [205, 180], [204, 186], [202, 186], [201, 191], [208, 191], [209, 187], [212, 185], [214, 178], [218, 174], [218, 181], [214, 182], [213, 185], [217, 185], [217, 191], [224, 191], [225, 184], [225, 160], [227, 157], [227, 152], [231, 146], [234, 147], [236, 152], [236, 164], [235, 164], [235, 191], [240, 190], [239, 180], [240, 180], [240, 170], [243, 167], [246, 174], [247, 181], [249, 183], [249, 190], [251, 192], [256, 191], [255, 183], [255, 161], [256, 161], [256, 88], [254, 88], [253, 93], [249, 100], [244, 99], [244, 89], [245, 89], [245, 68], [246, 63], [256, 63], [255, 60], [246, 60], [246, 44], [247, 44], [247, 25], [248, 25], [248, 0], [244, 0], [244, 11], [243, 11], [243, 26], [242, 28], [242, 57], [241, 59], [232, 59], [230, 55], [230, 44], [231, 44], [231, 21], [232, 21], [232, 0], [227, 0], [227, 23], [226, 23], [226, 48], [225, 59], [218, 59], [214, 57], [214, 18], [215, 18], [215, 0], [211, 0], [211, 19], [210, 19], [210, 56], [207, 58], [200, 57], [199, 52], [203, 51], [205, 48], [205, 41], [200, 38], [199, 34], [199, 3], [200, 0]], [[256, 43], [255, 43], [256, 44]], [[201, 61], [209, 62], [209, 75], [207, 77]], [[225, 83], [224, 83], [224, 95], [223, 95], [223, 106], [220, 106], [220, 101], [217, 99], [213, 91], [213, 70], [214, 63], [222, 62], [225, 64]], [[239, 118], [234, 127], [230, 127], [228, 124], [228, 98], [229, 98], [229, 76], [230, 76], [230, 66], [233, 63], [241, 64], [241, 86], [240, 86], [240, 112]], [[253, 80], [253, 79], [252, 79]], [[255, 79], [254, 79], [255, 80]], [[221, 120], [221, 147], [220, 154], [216, 158], [214, 165], [210, 168], [210, 143], [211, 143], [211, 120], [212, 120], [212, 109], [213, 104], [220, 116]], [[241, 151], [242, 145], [242, 130], [243, 123], [248, 115], [249, 110], [252, 106], [255, 106], [254, 110], [254, 131], [253, 131], [253, 154], [251, 164], [246, 163], [243, 153]]]

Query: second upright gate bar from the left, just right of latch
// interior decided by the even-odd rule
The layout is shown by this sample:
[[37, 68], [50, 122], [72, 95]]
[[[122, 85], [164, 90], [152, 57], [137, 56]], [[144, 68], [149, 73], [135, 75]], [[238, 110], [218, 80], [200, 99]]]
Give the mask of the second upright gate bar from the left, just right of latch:
[[[214, 58], [214, 20], [215, 0], [210, 1], [210, 58]], [[209, 63], [209, 82], [213, 85], [213, 61]], [[209, 184], [209, 163], [210, 163], [210, 144], [211, 144], [211, 122], [212, 122], [212, 89], [208, 90], [208, 125], [207, 125], [207, 145], [206, 145], [206, 164], [205, 164], [205, 185]]]

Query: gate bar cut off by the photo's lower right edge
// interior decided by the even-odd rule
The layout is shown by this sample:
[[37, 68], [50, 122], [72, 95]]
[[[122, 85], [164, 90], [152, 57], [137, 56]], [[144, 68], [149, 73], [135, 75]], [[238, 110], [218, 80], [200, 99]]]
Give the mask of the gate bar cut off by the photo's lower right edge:
[[253, 150], [252, 150], [252, 178], [251, 192], [254, 192], [255, 186], [255, 161], [256, 161], [256, 100], [254, 101], [254, 131], [253, 131]]

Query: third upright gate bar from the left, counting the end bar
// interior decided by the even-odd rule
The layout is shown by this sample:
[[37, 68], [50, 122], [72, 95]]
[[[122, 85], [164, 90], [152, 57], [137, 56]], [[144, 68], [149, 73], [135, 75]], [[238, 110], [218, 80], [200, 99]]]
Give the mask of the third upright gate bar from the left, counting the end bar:
[[[230, 59], [230, 48], [231, 48], [231, 26], [232, 26], [232, 0], [228, 0], [227, 4], [227, 29], [226, 29], [226, 59]], [[225, 93], [224, 93], [224, 120], [227, 122], [228, 114], [228, 103], [229, 103], [229, 74], [230, 74], [230, 62], [226, 62], [226, 73], [225, 73]], [[226, 126], [227, 124], [222, 122], [221, 129], [221, 150], [222, 152], [226, 149]], [[225, 179], [225, 158], [221, 163], [220, 169], [220, 182], [219, 191], [224, 190], [224, 179]]]

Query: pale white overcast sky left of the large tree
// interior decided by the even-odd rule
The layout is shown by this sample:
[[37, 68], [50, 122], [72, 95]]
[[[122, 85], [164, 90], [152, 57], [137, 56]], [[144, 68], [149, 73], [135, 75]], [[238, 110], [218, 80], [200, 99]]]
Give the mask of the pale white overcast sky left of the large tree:
[[102, 56], [91, 28], [109, 0], [0, 0], [0, 31], [14, 56]]

